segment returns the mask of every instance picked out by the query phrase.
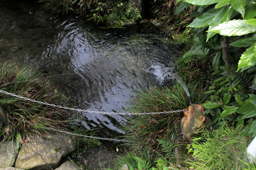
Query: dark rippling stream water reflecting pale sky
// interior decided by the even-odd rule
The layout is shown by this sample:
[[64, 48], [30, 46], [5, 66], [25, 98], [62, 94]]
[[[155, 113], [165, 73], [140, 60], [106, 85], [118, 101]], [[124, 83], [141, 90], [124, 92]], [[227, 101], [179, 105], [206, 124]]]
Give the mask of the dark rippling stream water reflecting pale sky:
[[[101, 29], [75, 16], [54, 16], [38, 4], [0, 2], [0, 60], [33, 65], [66, 90], [80, 109], [124, 112], [132, 89], [161, 84], [178, 45], [150, 22]], [[90, 126], [118, 131], [121, 115], [83, 113]], [[88, 120], [85, 120], [88, 122]]]

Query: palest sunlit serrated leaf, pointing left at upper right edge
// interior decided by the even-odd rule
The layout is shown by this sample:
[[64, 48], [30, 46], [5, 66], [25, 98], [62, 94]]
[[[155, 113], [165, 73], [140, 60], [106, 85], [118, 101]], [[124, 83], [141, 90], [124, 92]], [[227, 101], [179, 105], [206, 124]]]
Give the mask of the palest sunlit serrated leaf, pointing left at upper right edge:
[[231, 20], [228, 22], [224, 22], [219, 24], [217, 27], [214, 27], [209, 31], [219, 33], [220, 35], [232, 36], [232, 35], [244, 35], [253, 33], [256, 31], [256, 26], [247, 24], [245, 21], [247, 20]]

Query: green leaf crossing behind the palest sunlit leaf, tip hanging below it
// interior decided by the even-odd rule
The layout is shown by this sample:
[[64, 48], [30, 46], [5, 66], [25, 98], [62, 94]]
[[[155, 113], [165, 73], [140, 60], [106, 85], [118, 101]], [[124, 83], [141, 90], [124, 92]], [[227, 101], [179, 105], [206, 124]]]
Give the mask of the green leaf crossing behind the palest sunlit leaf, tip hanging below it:
[[[212, 19], [212, 22], [210, 23], [210, 27], [208, 30], [218, 26], [220, 23], [229, 21], [231, 15], [233, 13], [233, 8], [231, 6], [225, 6], [225, 7], [219, 8], [219, 9], [220, 9], [219, 12]], [[208, 32], [206, 41], [208, 41], [209, 38], [211, 38], [215, 34], [216, 34], [216, 32]]]

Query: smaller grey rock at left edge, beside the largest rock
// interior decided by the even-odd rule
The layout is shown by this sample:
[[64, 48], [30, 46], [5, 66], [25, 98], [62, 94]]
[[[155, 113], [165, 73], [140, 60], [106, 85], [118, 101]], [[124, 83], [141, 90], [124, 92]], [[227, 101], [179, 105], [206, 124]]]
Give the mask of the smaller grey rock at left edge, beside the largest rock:
[[18, 148], [20, 148], [20, 144], [16, 146], [16, 142], [0, 142], [0, 168], [6, 168], [14, 164]]

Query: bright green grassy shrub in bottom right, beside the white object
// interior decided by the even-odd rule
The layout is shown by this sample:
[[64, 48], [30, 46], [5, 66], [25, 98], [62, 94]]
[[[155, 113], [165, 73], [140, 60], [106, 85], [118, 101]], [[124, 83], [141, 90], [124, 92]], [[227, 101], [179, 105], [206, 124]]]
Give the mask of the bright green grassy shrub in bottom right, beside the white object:
[[[204, 132], [201, 138], [194, 139], [193, 160], [187, 162], [200, 170], [254, 170], [255, 164], [248, 164], [246, 147], [250, 138], [242, 135], [241, 128], [224, 124], [220, 129]], [[191, 168], [192, 168], [191, 167]]]

